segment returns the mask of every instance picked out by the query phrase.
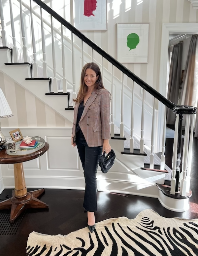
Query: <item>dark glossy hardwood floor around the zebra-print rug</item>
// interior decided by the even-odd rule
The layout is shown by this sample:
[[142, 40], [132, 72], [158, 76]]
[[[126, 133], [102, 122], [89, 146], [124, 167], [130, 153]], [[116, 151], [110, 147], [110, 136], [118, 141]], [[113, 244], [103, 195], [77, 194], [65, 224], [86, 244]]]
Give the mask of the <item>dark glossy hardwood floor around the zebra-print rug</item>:
[[[173, 139], [166, 141], [166, 164], [171, 166]], [[144, 209], [153, 209], [164, 217], [198, 218], [198, 140], [193, 142], [190, 208], [185, 212], [173, 212], [164, 208], [158, 199], [133, 195], [115, 195], [98, 192], [96, 222], [126, 216], [133, 219]], [[31, 189], [32, 190], [32, 189]], [[28, 191], [31, 191], [30, 189]], [[5, 189], [0, 199], [12, 195], [12, 189]], [[46, 189], [40, 199], [49, 204], [49, 210], [28, 209], [25, 211], [16, 235], [0, 235], [0, 256], [25, 256], [26, 242], [32, 231], [57, 235], [67, 235], [86, 227], [87, 216], [83, 212], [84, 191]], [[1, 210], [0, 216], [7, 210]], [[0, 223], [1, 225], [1, 223]]]

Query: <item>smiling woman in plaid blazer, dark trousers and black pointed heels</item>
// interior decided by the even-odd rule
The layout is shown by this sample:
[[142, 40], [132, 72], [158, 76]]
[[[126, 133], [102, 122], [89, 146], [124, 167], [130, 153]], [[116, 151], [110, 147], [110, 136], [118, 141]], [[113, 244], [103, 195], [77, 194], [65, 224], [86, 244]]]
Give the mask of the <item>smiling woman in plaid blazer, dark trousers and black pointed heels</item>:
[[100, 68], [94, 62], [82, 68], [81, 84], [74, 100], [74, 122], [72, 145], [77, 145], [85, 178], [83, 207], [87, 211], [87, 225], [95, 229], [97, 211], [96, 172], [98, 158], [111, 151], [110, 136], [110, 94], [104, 88]]

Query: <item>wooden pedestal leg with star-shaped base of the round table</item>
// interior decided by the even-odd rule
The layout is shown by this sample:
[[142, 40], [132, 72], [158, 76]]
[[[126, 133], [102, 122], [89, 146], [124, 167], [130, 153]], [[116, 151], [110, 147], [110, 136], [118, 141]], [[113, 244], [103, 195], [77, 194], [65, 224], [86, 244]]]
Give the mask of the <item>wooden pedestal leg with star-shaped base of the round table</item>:
[[48, 208], [48, 204], [37, 199], [45, 189], [38, 189], [27, 192], [25, 177], [23, 171], [23, 164], [14, 164], [15, 174], [15, 190], [13, 190], [13, 197], [3, 202], [0, 202], [0, 210], [11, 209], [10, 222], [24, 211], [25, 208]]

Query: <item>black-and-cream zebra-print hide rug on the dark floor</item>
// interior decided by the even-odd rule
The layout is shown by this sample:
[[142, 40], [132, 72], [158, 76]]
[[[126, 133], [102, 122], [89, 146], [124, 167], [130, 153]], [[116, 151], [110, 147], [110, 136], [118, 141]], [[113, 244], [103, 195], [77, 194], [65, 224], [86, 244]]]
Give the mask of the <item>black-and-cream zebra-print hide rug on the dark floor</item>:
[[135, 219], [107, 219], [67, 236], [32, 232], [27, 241], [28, 256], [196, 256], [198, 219], [164, 218], [153, 210]]

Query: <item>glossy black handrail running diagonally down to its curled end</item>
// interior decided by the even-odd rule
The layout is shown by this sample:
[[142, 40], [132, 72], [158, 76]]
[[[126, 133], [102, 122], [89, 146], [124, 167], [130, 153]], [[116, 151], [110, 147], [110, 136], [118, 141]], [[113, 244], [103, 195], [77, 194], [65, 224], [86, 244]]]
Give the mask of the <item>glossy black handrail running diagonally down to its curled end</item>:
[[156, 91], [151, 86], [149, 86], [147, 83], [145, 83], [142, 79], [140, 79], [134, 73], [132, 73], [128, 68], [123, 66], [120, 62], [118, 62], [111, 55], [109, 55], [108, 53], [103, 51], [99, 46], [97, 46], [90, 39], [88, 39], [86, 36], [84, 36], [78, 29], [76, 29], [74, 26], [72, 26], [68, 21], [66, 21], [64, 18], [62, 18], [56, 12], [54, 12], [44, 2], [42, 2], [41, 0], [33, 0], [33, 1], [35, 3], [37, 3], [39, 6], [41, 6], [45, 11], [47, 11], [52, 17], [57, 19], [66, 28], [68, 28], [72, 33], [74, 33], [76, 36], [78, 36], [83, 42], [85, 42], [87, 45], [89, 45], [91, 48], [93, 48], [96, 52], [98, 52], [100, 55], [102, 55], [104, 58], [106, 58], [109, 62], [111, 62], [115, 67], [117, 67], [126, 76], [131, 78], [139, 86], [141, 86], [146, 91], [148, 91], [151, 95], [153, 95], [156, 99], [158, 99], [160, 102], [162, 102], [165, 106], [167, 106], [170, 109], [173, 109], [175, 113], [177, 113], [179, 111], [180, 113], [182, 112], [182, 114], [196, 114], [196, 110], [197, 110], [196, 107], [182, 106], [182, 105], [180, 106], [180, 105], [174, 104], [173, 102], [171, 102], [170, 100], [165, 98], [163, 95], [161, 95], [158, 91]]

